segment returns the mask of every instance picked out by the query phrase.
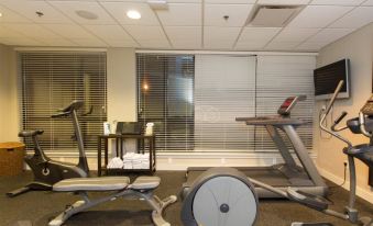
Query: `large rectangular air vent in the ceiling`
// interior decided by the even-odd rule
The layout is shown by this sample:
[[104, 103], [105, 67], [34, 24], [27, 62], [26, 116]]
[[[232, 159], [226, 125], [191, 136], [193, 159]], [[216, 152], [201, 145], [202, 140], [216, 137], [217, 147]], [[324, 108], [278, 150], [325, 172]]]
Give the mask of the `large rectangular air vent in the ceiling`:
[[253, 11], [246, 25], [268, 27], [285, 26], [299, 11], [299, 5], [259, 5]]

